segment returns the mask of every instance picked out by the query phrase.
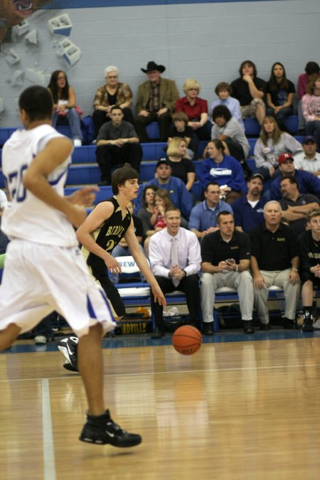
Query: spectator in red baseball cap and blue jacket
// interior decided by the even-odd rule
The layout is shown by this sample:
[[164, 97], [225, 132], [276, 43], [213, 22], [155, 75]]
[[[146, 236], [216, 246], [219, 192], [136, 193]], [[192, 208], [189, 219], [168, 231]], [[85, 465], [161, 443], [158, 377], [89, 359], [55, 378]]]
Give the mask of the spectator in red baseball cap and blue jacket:
[[310, 174], [309, 171], [294, 168], [292, 154], [281, 154], [278, 158], [279, 175], [271, 183], [270, 196], [272, 200], [281, 198], [280, 183], [284, 176], [294, 176], [298, 182], [300, 193], [311, 193], [320, 198], [320, 178]]

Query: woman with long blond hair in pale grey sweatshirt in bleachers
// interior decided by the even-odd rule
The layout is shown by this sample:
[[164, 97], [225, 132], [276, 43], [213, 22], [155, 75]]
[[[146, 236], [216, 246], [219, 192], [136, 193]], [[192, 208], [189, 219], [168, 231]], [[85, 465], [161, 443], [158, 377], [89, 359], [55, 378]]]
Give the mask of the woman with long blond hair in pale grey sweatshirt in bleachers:
[[257, 173], [269, 180], [277, 175], [279, 154], [299, 154], [302, 145], [287, 132], [282, 132], [274, 117], [265, 117], [260, 138], [255, 143]]

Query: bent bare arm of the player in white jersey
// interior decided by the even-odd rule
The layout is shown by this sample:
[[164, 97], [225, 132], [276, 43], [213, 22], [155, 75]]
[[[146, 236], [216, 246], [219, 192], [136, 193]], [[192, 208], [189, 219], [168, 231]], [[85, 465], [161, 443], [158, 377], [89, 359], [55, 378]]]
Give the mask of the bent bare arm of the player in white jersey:
[[65, 213], [75, 227], [78, 227], [87, 215], [85, 208], [73, 205], [60, 196], [48, 183], [48, 175], [68, 158], [73, 145], [69, 139], [59, 137], [50, 140], [45, 148], [36, 155], [23, 175], [23, 186], [47, 205]]

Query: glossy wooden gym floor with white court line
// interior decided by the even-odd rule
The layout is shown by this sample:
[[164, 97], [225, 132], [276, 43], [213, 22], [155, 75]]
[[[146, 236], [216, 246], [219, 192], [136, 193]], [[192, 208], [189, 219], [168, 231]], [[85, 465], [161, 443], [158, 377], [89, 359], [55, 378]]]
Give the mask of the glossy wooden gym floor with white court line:
[[80, 377], [55, 343], [0, 355], [1, 480], [318, 480], [319, 332], [219, 334], [184, 357], [148, 336], [105, 339], [114, 420], [132, 449], [78, 441]]

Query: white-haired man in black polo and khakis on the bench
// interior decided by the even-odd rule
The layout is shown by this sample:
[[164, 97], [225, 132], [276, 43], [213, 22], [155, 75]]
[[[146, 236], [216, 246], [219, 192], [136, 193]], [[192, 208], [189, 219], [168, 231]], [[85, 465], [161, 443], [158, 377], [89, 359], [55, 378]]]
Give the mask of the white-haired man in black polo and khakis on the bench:
[[281, 287], [286, 302], [284, 328], [292, 329], [300, 293], [297, 239], [292, 230], [281, 223], [282, 210], [279, 202], [267, 202], [263, 211], [265, 222], [250, 232], [255, 308], [261, 329], [270, 329], [268, 287]]

